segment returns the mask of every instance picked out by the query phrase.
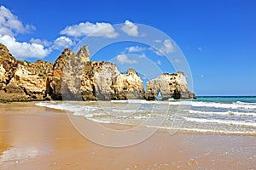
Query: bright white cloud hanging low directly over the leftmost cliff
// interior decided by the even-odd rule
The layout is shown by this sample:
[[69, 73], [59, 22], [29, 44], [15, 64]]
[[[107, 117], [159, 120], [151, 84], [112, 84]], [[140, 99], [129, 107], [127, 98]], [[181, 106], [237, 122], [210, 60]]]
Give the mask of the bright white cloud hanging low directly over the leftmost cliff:
[[17, 42], [15, 37], [0, 35], [0, 42], [9, 48], [11, 54], [18, 59], [44, 58], [51, 50], [38, 43]]

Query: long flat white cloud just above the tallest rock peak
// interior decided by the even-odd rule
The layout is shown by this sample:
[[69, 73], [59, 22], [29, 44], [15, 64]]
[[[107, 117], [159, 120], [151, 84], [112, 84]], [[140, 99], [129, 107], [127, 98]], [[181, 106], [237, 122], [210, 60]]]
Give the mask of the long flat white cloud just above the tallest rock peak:
[[61, 31], [62, 35], [71, 37], [117, 37], [118, 34], [115, 32], [113, 26], [105, 22], [96, 22], [96, 24], [90, 22], [81, 22], [78, 25], [67, 26]]

